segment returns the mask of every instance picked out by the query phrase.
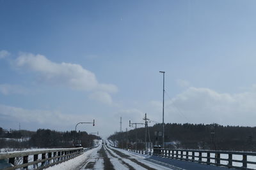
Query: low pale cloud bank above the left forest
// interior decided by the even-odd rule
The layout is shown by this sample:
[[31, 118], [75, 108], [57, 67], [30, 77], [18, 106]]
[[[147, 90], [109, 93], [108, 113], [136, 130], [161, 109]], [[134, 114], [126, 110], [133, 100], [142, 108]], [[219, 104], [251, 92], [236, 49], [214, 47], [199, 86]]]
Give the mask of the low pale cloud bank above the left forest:
[[[0, 124], [5, 129], [19, 128], [19, 123], [22, 128], [36, 131], [39, 128], [54, 129], [58, 131], [74, 131], [78, 122], [93, 122], [92, 124], [83, 124], [77, 126], [77, 131], [97, 132], [110, 135], [114, 130], [115, 125], [109, 124], [112, 117], [97, 116], [93, 113], [61, 113], [58, 110], [29, 110], [20, 107], [7, 106], [0, 104]], [[106, 136], [107, 137], [107, 136]]]

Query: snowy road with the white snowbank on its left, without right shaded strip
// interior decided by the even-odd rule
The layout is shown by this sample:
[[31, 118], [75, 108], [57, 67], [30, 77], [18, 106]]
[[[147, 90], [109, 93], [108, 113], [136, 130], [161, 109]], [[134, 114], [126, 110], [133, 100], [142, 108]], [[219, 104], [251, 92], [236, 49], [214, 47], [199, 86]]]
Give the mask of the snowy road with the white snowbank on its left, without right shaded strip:
[[144, 155], [138, 155], [125, 150], [113, 148], [100, 143], [97, 148], [83, 153], [75, 159], [49, 167], [48, 170], [70, 169], [170, 169], [146, 160]]

